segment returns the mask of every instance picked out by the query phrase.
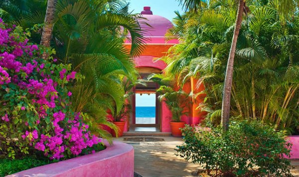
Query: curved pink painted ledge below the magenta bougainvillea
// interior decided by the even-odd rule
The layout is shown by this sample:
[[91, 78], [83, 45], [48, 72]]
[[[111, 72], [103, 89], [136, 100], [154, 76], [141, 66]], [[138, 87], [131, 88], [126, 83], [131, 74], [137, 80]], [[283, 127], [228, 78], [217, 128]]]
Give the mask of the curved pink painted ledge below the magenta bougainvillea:
[[95, 154], [28, 169], [7, 177], [134, 177], [134, 148], [114, 141]]

